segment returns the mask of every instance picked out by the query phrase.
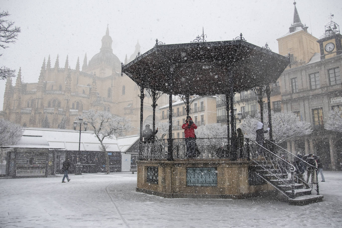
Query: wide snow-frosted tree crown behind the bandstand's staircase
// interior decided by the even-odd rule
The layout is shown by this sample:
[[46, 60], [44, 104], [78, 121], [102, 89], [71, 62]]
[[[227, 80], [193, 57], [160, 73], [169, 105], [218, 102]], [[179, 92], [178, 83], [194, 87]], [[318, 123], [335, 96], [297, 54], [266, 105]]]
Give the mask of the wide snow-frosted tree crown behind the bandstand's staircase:
[[[287, 139], [311, 134], [312, 129], [310, 123], [300, 121], [298, 116], [292, 112], [273, 112], [272, 130], [273, 139], [276, 144], [280, 144]], [[257, 122], [260, 121], [260, 113], [257, 117], [247, 116], [241, 123], [241, 130], [246, 137], [255, 140]], [[268, 115], [264, 112], [264, 129], [268, 126]], [[265, 138], [269, 138], [269, 134], [265, 134]]]

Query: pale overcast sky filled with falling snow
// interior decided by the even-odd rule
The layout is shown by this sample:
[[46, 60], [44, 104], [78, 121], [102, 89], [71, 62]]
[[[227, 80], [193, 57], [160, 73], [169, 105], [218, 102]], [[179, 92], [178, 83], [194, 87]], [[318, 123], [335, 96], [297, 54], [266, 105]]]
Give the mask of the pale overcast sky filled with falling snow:
[[[297, 0], [296, 6], [301, 22], [317, 38], [324, 34], [330, 13], [342, 26], [340, 0]], [[75, 69], [77, 57], [82, 66], [85, 53], [89, 61], [100, 51], [107, 24], [113, 53], [122, 62], [134, 52], [137, 40], [144, 53], [156, 38], [166, 44], [193, 41], [202, 27], [207, 41], [232, 40], [242, 32], [247, 42], [258, 46], [267, 42], [278, 53], [276, 39], [289, 31], [294, 11], [292, 0], [0, 0], [0, 7], [22, 29], [16, 43], [0, 50], [0, 65], [17, 71], [21, 67], [24, 82], [38, 82], [43, 59], [49, 55], [52, 67], [57, 54], [60, 67], [67, 55], [71, 68]], [[0, 80], [0, 110], [5, 82]]]

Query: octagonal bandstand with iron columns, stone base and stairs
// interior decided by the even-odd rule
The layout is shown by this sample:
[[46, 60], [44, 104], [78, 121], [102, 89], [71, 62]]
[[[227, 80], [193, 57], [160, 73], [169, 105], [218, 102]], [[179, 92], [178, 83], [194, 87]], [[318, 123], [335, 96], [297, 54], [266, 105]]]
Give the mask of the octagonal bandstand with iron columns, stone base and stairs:
[[[290, 57], [274, 53], [267, 46], [248, 43], [242, 34], [229, 41], [206, 42], [205, 37], [203, 32], [194, 41], [182, 44], [156, 40], [154, 48], [138, 54], [127, 65], [122, 64], [122, 72], [140, 88], [136, 190], [167, 198], [232, 199], [278, 190], [279, 195], [293, 204], [321, 200], [323, 196], [311, 197], [313, 183], [296, 176], [296, 167], [290, 162], [295, 156], [272, 141], [269, 84], [280, 77]], [[234, 94], [252, 88], [267, 94], [271, 140], [264, 146], [248, 138], [244, 144], [239, 143], [235, 118], [228, 117], [235, 116]], [[167, 139], [143, 141], [145, 91], [153, 99], [153, 110], [162, 93], [169, 95]], [[227, 137], [197, 138], [196, 152], [190, 156], [184, 138], [172, 138], [172, 95], [184, 98], [188, 115], [191, 96], [216, 94], [224, 94], [226, 98]], [[263, 105], [261, 113], [262, 108]], [[318, 194], [318, 184], [315, 190]]]

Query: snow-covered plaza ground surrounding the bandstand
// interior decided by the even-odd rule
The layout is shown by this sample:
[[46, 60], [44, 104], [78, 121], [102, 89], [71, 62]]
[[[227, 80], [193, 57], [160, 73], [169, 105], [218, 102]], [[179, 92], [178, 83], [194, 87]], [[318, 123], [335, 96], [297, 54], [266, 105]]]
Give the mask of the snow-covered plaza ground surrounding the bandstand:
[[131, 173], [0, 179], [0, 227], [341, 227], [342, 172], [324, 175], [324, 201], [305, 206], [150, 196], [135, 192]]

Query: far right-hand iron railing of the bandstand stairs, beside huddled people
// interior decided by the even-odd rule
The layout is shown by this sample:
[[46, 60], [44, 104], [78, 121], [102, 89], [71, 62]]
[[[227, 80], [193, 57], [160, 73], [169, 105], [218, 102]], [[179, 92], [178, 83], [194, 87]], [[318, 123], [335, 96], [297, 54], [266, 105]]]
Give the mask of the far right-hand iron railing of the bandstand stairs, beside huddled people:
[[[274, 154], [289, 161], [295, 167], [295, 172], [293, 174], [295, 183], [303, 184], [306, 188], [310, 188], [311, 190], [314, 189], [317, 191], [317, 194], [319, 193], [316, 166], [307, 163], [304, 159], [299, 158], [293, 153], [273, 143], [271, 140], [266, 139], [265, 147]], [[310, 172], [312, 171], [314, 171], [314, 175], [311, 175], [310, 178]], [[316, 189], [314, 188], [314, 183], [316, 183]]]

